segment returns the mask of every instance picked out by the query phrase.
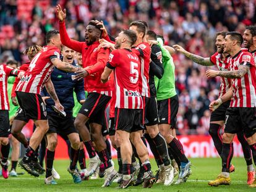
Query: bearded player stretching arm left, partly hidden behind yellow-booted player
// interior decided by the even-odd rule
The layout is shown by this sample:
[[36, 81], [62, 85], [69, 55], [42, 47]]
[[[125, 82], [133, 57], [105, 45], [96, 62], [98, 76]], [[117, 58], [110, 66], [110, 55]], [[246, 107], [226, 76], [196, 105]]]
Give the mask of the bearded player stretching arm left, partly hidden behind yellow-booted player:
[[[228, 53], [224, 53], [224, 43], [225, 43], [225, 36], [226, 31], [220, 31], [216, 33], [216, 48], [217, 51], [215, 54], [213, 54], [211, 57], [203, 58], [200, 56], [197, 56], [195, 54], [192, 54], [191, 52], [188, 52], [184, 50], [179, 45], [174, 45], [173, 47], [176, 49], [176, 51], [181, 52], [186, 57], [191, 59], [192, 61], [196, 62], [199, 65], [203, 66], [213, 66], [216, 65], [220, 71], [227, 71], [229, 67], [229, 62], [231, 59], [231, 56], [229, 56]], [[231, 79], [221, 77], [221, 84], [220, 84], [220, 93], [219, 98], [223, 96], [231, 87]], [[222, 148], [223, 148], [223, 140], [220, 135], [221, 127], [224, 125], [225, 120], [225, 114], [226, 110], [229, 107], [231, 100], [228, 100], [226, 102], [223, 102], [218, 109], [211, 112], [211, 119], [210, 119], [210, 128], [209, 128], [209, 134], [211, 135], [211, 138], [213, 139], [213, 143], [215, 144], [215, 148], [218, 151], [218, 154], [221, 156]], [[244, 159], [247, 164], [247, 183], [250, 185], [252, 182], [254, 182], [254, 167], [252, 164], [252, 155], [250, 151], [250, 146], [247, 143], [247, 141], [244, 138], [243, 131], [240, 131], [237, 133], [237, 138], [239, 142], [242, 145], [242, 150], [244, 152]], [[234, 172], [234, 165], [231, 164], [230, 172]]]

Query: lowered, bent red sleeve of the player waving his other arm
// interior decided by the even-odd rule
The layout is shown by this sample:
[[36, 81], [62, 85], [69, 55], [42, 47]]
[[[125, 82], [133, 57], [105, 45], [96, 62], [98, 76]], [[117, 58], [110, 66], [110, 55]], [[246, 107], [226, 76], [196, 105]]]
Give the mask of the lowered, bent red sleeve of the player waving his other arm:
[[87, 72], [92, 74], [100, 70], [104, 70], [106, 62], [108, 62], [109, 52], [109, 49], [101, 48], [98, 50], [97, 62], [90, 69], [87, 69]]

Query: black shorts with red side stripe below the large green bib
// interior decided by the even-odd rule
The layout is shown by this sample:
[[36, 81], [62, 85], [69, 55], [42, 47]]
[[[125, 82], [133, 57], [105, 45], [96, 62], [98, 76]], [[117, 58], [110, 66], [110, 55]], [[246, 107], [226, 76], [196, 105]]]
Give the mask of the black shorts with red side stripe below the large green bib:
[[158, 101], [159, 124], [169, 124], [176, 128], [176, 116], [179, 109], [179, 98], [177, 94], [171, 98]]

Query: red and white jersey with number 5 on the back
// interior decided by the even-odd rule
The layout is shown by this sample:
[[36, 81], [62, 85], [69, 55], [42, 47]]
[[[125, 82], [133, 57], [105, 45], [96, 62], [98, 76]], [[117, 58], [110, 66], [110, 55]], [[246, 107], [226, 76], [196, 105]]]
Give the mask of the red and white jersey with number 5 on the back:
[[114, 69], [117, 108], [142, 109], [142, 97], [139, 92], [140, 61], [134, 51], [116, 49], [109, 54], [106, 65]]

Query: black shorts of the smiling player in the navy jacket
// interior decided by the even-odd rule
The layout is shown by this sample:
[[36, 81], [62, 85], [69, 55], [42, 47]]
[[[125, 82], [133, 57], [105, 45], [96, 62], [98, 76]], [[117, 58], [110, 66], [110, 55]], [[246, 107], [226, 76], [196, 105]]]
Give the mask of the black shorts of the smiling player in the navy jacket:
[[62, 138], [67, 138], [70, 133], [78, 133], [74, 126], [74, 117], [67, 115], [62, 117], [57, 113], [48, 112], [49, 130], [47, 133], [58, 133]]

